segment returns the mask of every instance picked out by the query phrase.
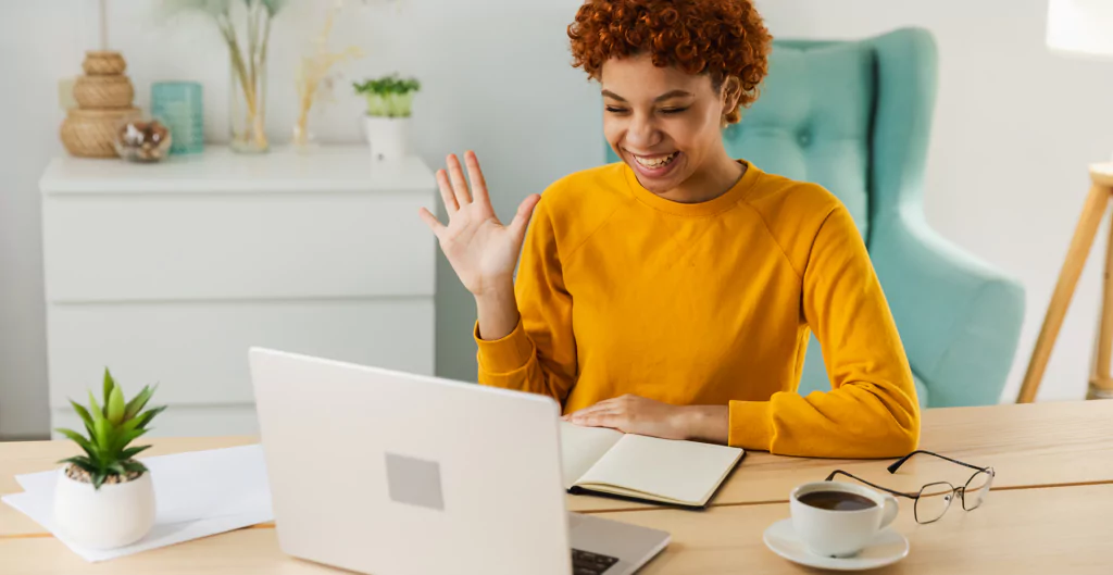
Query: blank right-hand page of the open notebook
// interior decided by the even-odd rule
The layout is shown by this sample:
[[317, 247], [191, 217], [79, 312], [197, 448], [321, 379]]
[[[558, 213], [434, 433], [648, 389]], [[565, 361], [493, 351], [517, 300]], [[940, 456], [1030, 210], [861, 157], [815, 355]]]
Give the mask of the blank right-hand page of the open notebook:
[[698, 505], [740, 456], [737, 447], [626, 435], [579, 483], [614, 485]]

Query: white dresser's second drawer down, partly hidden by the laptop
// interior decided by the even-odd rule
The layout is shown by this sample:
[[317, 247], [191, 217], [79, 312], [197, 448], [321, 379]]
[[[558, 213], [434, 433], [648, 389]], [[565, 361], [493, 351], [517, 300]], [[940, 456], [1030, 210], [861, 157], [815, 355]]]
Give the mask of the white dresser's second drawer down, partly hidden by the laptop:
[[99, 393], [106, 366], [129, 396], [159, 383], [158, 404], [249, 405], [252, 346], [424, 375], [434, 366], [424, 297], [51, 304], [47, 327], [51, 408]]

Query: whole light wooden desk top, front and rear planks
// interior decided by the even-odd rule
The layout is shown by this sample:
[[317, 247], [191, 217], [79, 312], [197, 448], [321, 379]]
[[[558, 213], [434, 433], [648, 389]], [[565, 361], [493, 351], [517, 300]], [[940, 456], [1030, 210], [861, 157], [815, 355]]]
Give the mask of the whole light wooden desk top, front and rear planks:
[[[253, 437], [157, 439], [151, 455], [253, 443]], [[922, 446], [992, 465], [997, 480], [983, 508], [957, 506], [939, 523], [916, 525], [910, 507], [897, 531], [912, 542], [899, 564], [877, 573], [1113, 573], [1113, 401], [933, 409]], [[0, 444], [0, 493], [18, 492], [13, 475], [50, 469], [71, 455], [67, 442]], [[965, 480], [958, 466], [923, 459], [897, 476], [887, 462], [776, 457], [752, 453], [703, 513], [570, 496], [580, 510], [615, 510], [620, 521], [666, 529], [668, 551], [646, 574], [817, 573], [766, 549], [761, 533], [788, 516], [792, 486], [836, 467], [914, 490], [932, 480]], [[629, 509], [638, 507], [638, 509]], [[325, 567], [282, 555], [272, 526], [243, 529], [102, 564], [88, 564], [38, 524], [0, 505], [0, 573], [324, 574]]]

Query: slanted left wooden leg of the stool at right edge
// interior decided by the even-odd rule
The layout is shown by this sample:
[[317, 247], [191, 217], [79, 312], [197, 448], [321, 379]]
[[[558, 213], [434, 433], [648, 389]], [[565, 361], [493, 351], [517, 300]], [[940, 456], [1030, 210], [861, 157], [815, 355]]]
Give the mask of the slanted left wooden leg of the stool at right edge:
[[1016, 398], [1020, 404], [1027, 404], [1036, 398], [1040, 380], [1043, 379], [1044, 370], [1047, 368], [1047, 360], [1051, 358], [1052, 348], [1055, 347], [1058, 330], [1063, 327], [1063, 318], [1066, 317], [1066, 310], [1071, 307], [1074, 288], [1078, 285], [1078, 277], [1086, 265], [1086, 256], [1090, 255], [1094, 236], [1097, 235], [1097, 227], [1105, 216], [1111, 194], [1113, 194], [1113, 189], [1109, 187], [1095, 185], [1090, 188], [1090, 195], [1086, 196], [1078, 225], [1074, 229], [1074, 237], [1071, 239], [1071, 247], [1066, 252], [1066, 260], [1063, 261], [1063, 269], [1058, 272], [1058, 282], [1055, 284], [1055, 293], [1047, 306], [1043, 328], [1040, 329], [1040, 337], [1032, 351], [1028, 370], [1024, 375], [1024, 383]]

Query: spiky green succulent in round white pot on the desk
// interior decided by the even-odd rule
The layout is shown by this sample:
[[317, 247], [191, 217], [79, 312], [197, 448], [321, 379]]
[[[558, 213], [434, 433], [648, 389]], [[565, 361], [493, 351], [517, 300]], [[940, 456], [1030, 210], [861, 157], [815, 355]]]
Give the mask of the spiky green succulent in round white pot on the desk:
[[[156, 386], [157, 387], [157, 386]], [[57, 432], [85, 455], [67, 464], [55, 489], [55, 523], [72, 543], [95, 549], [122, 547], [141, 539], [155, 524], [155, 489], [150, 473], [135, 456], [150, 447], [132, 447], [165, 406], [144, 410], [155, 388], [146, 386], [130, 400], [105, 369], [104, 405], [89, 391], [89, 407], [70, 400], [88, 436]]]

